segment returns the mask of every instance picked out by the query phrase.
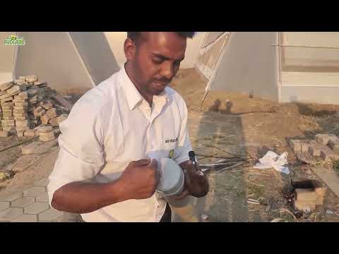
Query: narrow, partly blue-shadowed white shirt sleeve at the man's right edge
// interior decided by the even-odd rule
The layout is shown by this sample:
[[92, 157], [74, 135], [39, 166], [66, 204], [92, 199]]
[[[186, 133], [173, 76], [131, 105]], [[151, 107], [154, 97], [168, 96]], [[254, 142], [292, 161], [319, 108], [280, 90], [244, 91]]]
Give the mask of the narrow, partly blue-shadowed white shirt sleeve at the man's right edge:
[[174, 150], [174, 161], [177, 164], [182, 164], [189, 160], [189, 152], [192, 150], [191, 142], [189, 140], [188, 131], [188, 111], [184, 99], [182, 99], [182, 125], [180, 127], [180, 135], [178, 140], [178, 146]]

